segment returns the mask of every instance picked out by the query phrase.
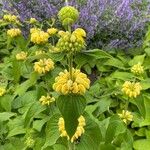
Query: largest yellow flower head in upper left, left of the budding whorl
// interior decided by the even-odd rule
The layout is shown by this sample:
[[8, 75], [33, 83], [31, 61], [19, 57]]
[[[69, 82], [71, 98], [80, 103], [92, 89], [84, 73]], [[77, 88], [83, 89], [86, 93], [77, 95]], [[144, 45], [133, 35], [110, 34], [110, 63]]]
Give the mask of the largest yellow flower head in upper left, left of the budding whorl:
[[31, 42], [35, 44], [44, 44], [48, 42], [49, 34], [44, 31], [32, 30], [31, 32]]

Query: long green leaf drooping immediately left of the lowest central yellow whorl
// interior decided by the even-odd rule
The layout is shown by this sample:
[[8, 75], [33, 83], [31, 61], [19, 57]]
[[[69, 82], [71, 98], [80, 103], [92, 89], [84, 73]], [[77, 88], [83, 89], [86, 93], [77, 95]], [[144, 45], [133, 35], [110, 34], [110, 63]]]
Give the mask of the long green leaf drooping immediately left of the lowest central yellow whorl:
[[46, 130], [45, 130], [46, 141], [44, 146], [42, 147], [42, 150], [48, 146], [54, 145], [57, 139], [60, 137], [60, 133], [58, 130], [58, 121], [60, 117], [61, 117], [60, 114], [55, 114], [47, 122]]

